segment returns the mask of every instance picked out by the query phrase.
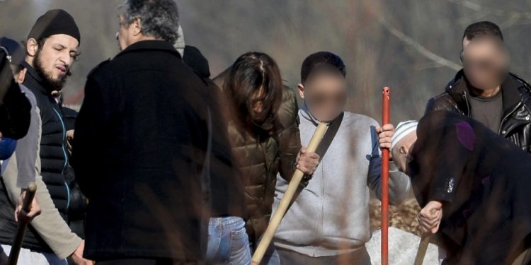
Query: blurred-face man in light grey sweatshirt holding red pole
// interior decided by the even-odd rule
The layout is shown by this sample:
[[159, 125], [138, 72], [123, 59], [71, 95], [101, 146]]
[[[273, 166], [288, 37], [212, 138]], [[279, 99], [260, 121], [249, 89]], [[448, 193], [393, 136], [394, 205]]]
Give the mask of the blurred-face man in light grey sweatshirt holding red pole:
[[[304, 60], [298, 90], [304, 100], [299, 110], [303, 145], [319, 123], [341, 124], [275, 233], [281, 264], [371, 264], [365, 249], [371, 237], [370, 189], [380, 198], [380, 148], [389, 148], [394, 127], [380, 127], [375, 119], [344, 111], [346, 66], [331, 52], [317, 52]], [[287, 184], [278, 177], [274, 209]], [[390, 203], [400, 204], [410, 190], [409, 177], [390, 163]]]

